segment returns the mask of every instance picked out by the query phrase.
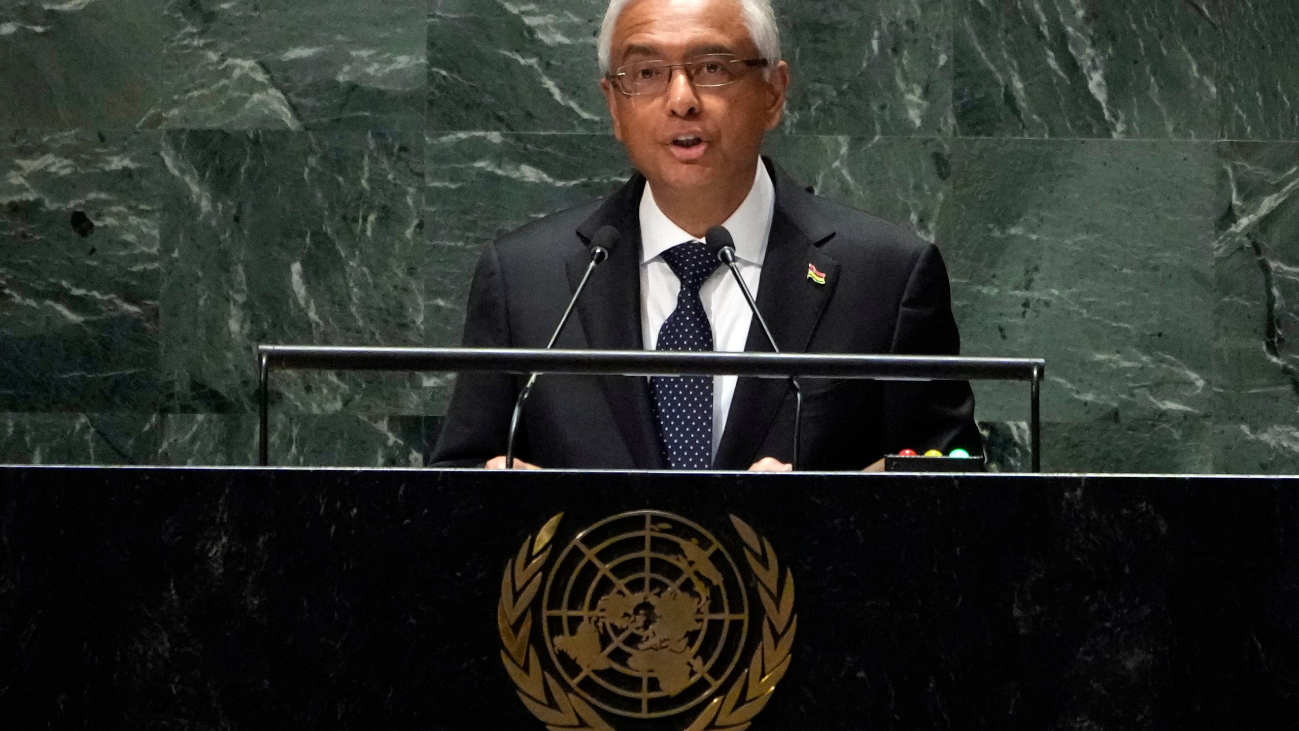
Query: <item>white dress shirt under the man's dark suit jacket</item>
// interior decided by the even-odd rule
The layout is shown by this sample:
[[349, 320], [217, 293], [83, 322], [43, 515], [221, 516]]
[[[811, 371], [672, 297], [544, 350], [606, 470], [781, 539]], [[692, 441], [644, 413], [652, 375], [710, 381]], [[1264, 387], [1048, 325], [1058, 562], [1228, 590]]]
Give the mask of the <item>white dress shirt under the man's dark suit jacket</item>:
[[[766, 165], [759, 161], [748, 196], [722, 224], [735, 241], [739, 273], [755, 298], [774, 213], [776, 186], [766, 172]], [[640, 332], [646, 350], [657, 347], [659, 330], [677, 308], [677, 294], [681, 293], [681, 281], [664, 261], [662, 252], [688, 241], [699, 239], [681, 230], [659, 209], [653, 191], [650, 183], [646, 183], [646, 191], [640, 196]], [[743, 351], [753, 313], [750, 312], [744, 293], [735, 284], [730, 271], [718, 265], [713, 276], [699, 289], [699, 298], [713, 326], [713, 350]], [[726, 429], [726, 415], [730, 412], [738, 380], [737, 376], [716, 376], [713, 380], [713, 458], [717, 457], [717, 446]]]

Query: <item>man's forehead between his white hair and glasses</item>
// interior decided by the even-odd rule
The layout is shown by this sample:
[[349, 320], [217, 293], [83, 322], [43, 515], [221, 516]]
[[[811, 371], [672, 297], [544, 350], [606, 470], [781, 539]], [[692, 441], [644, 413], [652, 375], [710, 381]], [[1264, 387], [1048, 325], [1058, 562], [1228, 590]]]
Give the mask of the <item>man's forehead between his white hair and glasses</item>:
[[755, 49], [739, 0], [634, 0], [618, 16], [613, 57]]

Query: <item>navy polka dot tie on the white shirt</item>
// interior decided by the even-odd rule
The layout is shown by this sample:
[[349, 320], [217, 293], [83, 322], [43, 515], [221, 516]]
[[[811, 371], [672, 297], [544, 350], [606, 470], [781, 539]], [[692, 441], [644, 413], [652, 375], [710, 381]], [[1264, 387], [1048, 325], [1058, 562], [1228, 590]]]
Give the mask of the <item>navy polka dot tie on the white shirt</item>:
[[[691, 241], [664, 251], [662, 258], [681, 280], [681, 294], [659, 330], [657, 350], [712, 351], [713, 328], [699, 287], [717, 271], [714, 248]], [[713, 377], [655, 376], [650, 389], [668, 466], [708, 470], [713, 463]]]

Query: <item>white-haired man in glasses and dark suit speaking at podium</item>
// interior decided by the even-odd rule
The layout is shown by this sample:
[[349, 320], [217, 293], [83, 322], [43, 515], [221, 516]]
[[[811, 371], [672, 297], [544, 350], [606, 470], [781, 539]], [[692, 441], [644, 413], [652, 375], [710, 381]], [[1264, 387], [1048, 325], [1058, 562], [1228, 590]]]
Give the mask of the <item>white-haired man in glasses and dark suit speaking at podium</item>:
[[[466, 347], [544, 347], [591, 239], [613, 226], [621, 245], [556, 347], [769, 351], [738, 285], [699, 241], [724, 225], [782, 351], [959, 352], [933, 245], [814, 196], [760, 157], [788, 85], [769, 0], [612, 0], [600, 61], [614, 134], [638, 173], [605, 200], [487, 246]], [[503, 467], [522, 382], [461, 375], [434, 463]], [[878, 468], [908, 447], [981, 453], [965, 382], [801, 385], [800, 468]], [[792, 431], [785, 381], [543, 376], [517, 454], [523, 467], [781, 471]]]

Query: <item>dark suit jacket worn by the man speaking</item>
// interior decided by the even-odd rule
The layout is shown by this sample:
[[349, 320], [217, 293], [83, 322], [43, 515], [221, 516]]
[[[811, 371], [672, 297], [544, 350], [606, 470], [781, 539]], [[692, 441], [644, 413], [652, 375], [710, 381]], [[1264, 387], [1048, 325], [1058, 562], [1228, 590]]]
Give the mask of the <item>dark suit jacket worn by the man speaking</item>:
[[[776, 215], [757, 306], [786, 352], [955, 355], [947, 269], [911, 232], [805, 191], [765, 161]], [[548, 216], [486, 247], [465, 316], [466, 347], [546, 347], [586, 269], [591, 237], [622, 234], [587, 284], [556, 347], [642, 350], [640, 194], [637, 174], [611, 198]], [[826, 284], [808, 278], [808, 264]], [[770, 351], [750, 328], [751, 351]], [[462, 373], [433, 463], [482, 466], [505, 453], [522, 376]], [[963, 446], [981, 454], [965, 382], [804, 379], [805, 470], [860, 470], [886, 453]], [[516, 455], [542, 467], [662, 468], [643, 377], [542, 376], [523, 410]], [[714, 467], [790, 462], [794, 398], [781, 380], [740, 379]]]

